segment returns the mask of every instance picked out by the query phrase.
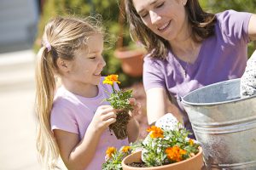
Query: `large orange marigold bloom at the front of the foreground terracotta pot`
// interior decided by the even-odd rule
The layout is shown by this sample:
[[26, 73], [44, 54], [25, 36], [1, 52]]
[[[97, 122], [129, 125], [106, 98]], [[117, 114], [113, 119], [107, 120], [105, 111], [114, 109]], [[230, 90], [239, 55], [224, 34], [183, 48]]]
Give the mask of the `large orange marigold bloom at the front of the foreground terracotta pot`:
[[166, 149], [166, 155], [172, 161], [183, 161], [182, 156], [185, 155], [186, 153], [186, 150], [183, 150], [178, 146], [173, 146]]

